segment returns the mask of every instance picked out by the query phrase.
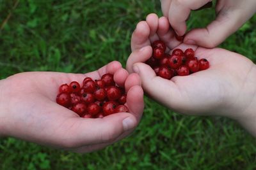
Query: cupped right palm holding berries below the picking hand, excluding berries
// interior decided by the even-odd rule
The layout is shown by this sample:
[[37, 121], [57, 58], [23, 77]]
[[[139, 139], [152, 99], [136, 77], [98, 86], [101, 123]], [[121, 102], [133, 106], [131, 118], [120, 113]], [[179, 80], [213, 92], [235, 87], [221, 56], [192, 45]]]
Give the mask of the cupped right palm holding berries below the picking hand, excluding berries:
[[[161, 39], [166, 53], [193, 48], [198, 59], [209, 60], [207, 70], [166, 80], [143, 63], [152, 56], [152, 42]], [[256, 66], [238, 53], [221, 48], [189, 46], [175, 39], [166, 17], [150, 14], [138, 23], [131, 38], [127, 71], [138, 73], [143, 90], [159, 103], [186, 115], [221, 115], [233, 118], [256, 136]]]

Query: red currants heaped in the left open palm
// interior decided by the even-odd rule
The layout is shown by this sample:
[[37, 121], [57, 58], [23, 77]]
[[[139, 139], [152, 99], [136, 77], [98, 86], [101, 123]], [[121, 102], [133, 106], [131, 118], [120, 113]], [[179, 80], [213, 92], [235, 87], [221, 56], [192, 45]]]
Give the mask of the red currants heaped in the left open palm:
[[104, 74], [100, 80], [86, 77], [83, 86], [77, 81], [59, 88], [56, 103], [84, 118], [102, 118], [113, 113], [127, 112], [125, 90], [118, 87], [113, 74]]

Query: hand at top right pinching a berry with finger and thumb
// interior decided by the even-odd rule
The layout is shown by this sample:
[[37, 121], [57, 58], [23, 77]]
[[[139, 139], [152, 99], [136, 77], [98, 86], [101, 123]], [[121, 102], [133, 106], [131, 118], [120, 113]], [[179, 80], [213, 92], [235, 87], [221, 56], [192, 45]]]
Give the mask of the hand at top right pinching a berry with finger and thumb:
[[[186, 33], [186, 20], [191, 10], [196, 10], [211, 0], [161, 0], [163, 15], [178, 36]], [[205, 28], [192, 29], [184, 43], [214, 48], [241, 27], [256, 12], [255, 0], [218, 0], [216, 18]]]

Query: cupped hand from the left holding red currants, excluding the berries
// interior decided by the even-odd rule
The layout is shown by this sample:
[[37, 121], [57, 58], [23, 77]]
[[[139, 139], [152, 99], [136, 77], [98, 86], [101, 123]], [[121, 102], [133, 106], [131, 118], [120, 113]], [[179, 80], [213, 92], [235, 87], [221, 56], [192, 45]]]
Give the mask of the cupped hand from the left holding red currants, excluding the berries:
[[[114, 74], [114, 80], [127, 92], [129, 113], [104, 118], [81, 118], [56, 103], [61, 84], [83, 82], [86, 76], [100, 79]], [[143, 90], [138, 74], [128, 74], [113, 61], [86, 74], [27, 72], [0, 81], [0, 132], [72, 152], [92, 152], [131, 134], [143, 113]]]

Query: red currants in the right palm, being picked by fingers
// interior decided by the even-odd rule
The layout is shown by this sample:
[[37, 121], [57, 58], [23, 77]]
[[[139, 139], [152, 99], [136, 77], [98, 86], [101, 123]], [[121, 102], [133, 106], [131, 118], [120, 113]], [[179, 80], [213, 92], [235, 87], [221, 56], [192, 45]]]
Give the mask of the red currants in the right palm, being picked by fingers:
[[209, 61], [198, 60], [192, 48], [186, 49], [185, 52], [176, 48], [170, 55], [165, 53], [166, 45], [161, 40], [154, 41], [152, 48], [152, 57], [146, 61], [146, 64], [162, 78], [170, 80], [173, 76], [187, 76], [209, 68]]

